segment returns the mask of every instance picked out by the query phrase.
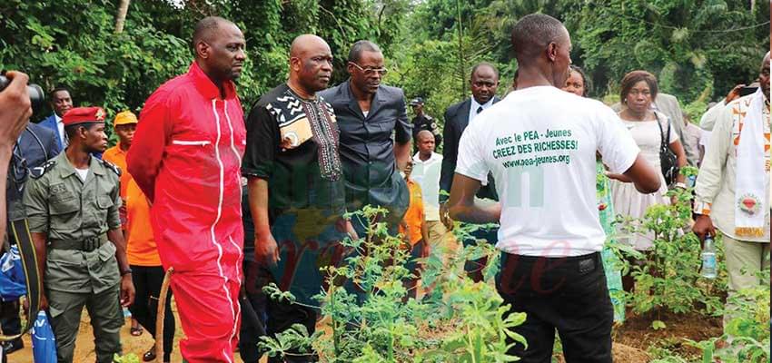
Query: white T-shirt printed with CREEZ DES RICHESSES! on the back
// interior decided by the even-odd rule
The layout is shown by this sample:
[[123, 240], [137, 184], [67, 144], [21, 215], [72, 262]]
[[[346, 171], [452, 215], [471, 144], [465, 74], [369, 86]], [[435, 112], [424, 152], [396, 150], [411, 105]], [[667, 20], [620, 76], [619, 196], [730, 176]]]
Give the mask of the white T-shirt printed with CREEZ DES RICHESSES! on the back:
[[[527, 256], [581, 256], [603, 248], [595, 153], [627, 172], [638, 146], [598, 101], [552, 86], [518, 90], [463, 132], [456, 172], [488, 182], [501, 203], [496, 247]], [[525, 166], [523, 166], [525, 165]]]

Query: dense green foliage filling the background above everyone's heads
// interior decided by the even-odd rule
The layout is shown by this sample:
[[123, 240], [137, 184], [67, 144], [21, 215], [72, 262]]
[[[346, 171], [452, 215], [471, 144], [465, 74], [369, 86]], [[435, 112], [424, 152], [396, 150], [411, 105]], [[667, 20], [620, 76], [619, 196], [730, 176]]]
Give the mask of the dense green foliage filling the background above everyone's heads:
[[542, 12], [569, 28], [574, 63], [596, 84], [591, 95], [616, 93], [623, 74], [646, 69], [682, 103], [698, 102], [698, 115], [702, 104], [756, 77], [769, 47], [769, 3], [756, 4], [751, 11], [726, 0], [134, 0], [124, 32], [114, 34], [118, 0], [0, 0], [0, 69], [23, 70], [49, 90], [69, 86], [76, 104], [103, 105], [110, 115], [136, 111], [191, 63], [195, 20], [222, 15], [247, 39], [239, 81], [247, 107], [283, 82], [292, 38], [314, 33], [331, 45], [335, 83], [347, 77], [350, 45], [371, 39], [392, 70], [386, 82], [427, 99], [437, 117], [469, 95], [477, 62], [499, 66], [506, 93], [517, 67], [510, 29]]

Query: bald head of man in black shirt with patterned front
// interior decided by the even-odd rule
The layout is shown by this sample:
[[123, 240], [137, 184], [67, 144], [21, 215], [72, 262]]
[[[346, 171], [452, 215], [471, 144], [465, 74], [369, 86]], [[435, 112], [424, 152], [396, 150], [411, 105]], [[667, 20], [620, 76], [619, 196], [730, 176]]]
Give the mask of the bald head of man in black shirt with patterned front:
[[332, 78], [332, 51], [324, 39], [302, 34], [290, 46], [290, 84], [296, 91], [313, 95], [327, 88]]

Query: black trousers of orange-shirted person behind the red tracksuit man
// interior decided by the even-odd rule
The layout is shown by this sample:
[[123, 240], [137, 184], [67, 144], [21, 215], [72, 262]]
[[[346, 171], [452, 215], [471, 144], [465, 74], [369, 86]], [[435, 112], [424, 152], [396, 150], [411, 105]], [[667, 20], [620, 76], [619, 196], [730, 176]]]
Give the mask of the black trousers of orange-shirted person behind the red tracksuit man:
[[[161, 266], [132, 265], [132, 280], [136, 295], [134, 304], [129, 307], [132, 317], [155, 337], [155, 322], [158, 315], [158, 297], [163, 284]], [[163, 361], [170, 361], [174, 343], [174, 315], [172, 312], [172, 291], [166, 295], [166, 307], [163, 314]]]

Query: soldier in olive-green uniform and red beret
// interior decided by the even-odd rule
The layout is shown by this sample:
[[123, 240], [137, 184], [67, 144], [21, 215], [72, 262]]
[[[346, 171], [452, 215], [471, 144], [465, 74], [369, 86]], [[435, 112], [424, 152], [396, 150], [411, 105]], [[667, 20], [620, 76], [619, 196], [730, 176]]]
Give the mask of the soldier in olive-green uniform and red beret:
[[[121, 353], [120, 305], [134, 300], [118, 208], [120, 170], [104, 152], [104, 111], [78, 107], [64, 114], [67, 149], [32, 171], [25, 188], [29, 230], [45, 286], [59, 363], [72, 362], [83, 308], [91, 316], [98, 363]], [[120, 305], [119, 305], [120, 300]]]

